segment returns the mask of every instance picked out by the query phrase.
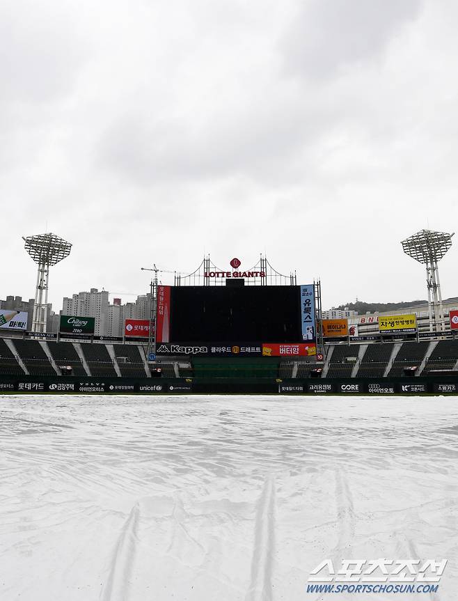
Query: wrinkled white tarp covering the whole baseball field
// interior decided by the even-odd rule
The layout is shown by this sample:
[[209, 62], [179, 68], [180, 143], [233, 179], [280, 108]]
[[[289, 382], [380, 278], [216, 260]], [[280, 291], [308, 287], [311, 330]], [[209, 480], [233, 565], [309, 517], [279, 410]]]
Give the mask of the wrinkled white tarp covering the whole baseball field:
[[[458, 398], [0, 396], [2, 601], [458, 599]], [[324, 559], [436, 593], [307, 593]]]

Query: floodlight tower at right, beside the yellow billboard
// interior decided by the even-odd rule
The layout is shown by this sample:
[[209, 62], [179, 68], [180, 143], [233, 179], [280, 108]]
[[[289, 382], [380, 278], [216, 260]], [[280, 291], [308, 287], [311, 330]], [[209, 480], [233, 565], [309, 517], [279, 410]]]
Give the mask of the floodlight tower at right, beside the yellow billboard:
[[429, 331], [444, 331], [441, 283], [437, 263], [452, 246], [452, 235], [444, 232], [422, 230], [402, 240], [402, 249], [406, 255], [426, 265], [426, 284], [428, 288]]

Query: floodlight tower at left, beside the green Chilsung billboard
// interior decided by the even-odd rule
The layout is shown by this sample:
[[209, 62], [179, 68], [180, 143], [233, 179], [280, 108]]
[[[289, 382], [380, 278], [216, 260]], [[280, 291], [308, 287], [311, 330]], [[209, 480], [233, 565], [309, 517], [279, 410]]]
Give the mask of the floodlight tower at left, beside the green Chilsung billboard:
[[68, 257], [72, 244], [62, 238], [49, 233], [36, 236], [22, 236], [25, 241], [24, 248], [31, 258], [38, 263], [37, 288], [35, 291], [35, 304], [33, 305], [32, 331], [45, 332], [48, 304], [48, 279], [49, 267], [56, 265]]

